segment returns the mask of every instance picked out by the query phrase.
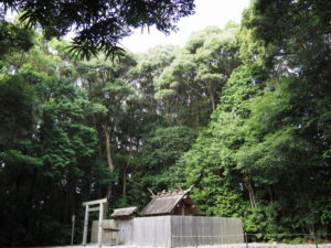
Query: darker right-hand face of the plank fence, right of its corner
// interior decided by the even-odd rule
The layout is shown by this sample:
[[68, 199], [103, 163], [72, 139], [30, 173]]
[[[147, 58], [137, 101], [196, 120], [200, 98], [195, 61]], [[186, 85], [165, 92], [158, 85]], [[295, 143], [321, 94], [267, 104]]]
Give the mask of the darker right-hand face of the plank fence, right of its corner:
[[171, 216], [171, 247], [244, 242], [239, 218]]

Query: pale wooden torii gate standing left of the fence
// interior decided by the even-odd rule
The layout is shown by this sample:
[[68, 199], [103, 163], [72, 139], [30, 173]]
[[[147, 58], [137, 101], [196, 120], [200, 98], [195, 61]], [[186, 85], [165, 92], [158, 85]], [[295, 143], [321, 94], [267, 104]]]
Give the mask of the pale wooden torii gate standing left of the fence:
[[[103, 219], [104, 219], [104, 204], [107, 203], [107, 198], [100, 198], [90, 202], [84, 202], [85, 206], [85, 219], [84, 219], [84, 231], [83, 231], [83, 246], [86, 246], [87, 240], [87, 229], [88, 229], [88, 212], [98, 211], [99, 212], [99, 223], [98, 223], [98, 247], [103, 245]], [[90, 205], [99, 204], [98, 207], [89, 207]]]

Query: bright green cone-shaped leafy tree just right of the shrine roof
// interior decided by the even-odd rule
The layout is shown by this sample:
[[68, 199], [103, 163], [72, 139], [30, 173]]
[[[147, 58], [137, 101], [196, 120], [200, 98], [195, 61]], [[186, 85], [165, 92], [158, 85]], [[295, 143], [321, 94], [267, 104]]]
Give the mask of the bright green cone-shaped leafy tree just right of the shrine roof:
[[259, 88], [253, 84], [249, 67], [243, 65], [234, 69], [210, 126], [182, 158], [188, 184], [197, 188], [193, 198], [206, 214], [243, 217], [245, 213], [247, 203], [243, 174], [236, 166], [236, 151], [245, 140], [242, 126], [249, 114], [250, 98]]

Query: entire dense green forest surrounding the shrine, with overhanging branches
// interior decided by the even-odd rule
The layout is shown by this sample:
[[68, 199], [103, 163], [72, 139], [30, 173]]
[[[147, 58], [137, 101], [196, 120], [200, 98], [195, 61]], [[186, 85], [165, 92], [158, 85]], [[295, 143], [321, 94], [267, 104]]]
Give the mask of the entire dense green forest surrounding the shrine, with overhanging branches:
[[[259, 240], [330, 234], [330, 1], [253, 1], [241, 25], [113, 60], [86, 40], [100, 52], [89, 61], [50, 40], [77, 22], [56, 18], [65, 1], [33, 1], [49, 3], [46, 23], [31, 1], [1, 2], [0, 246], [68, 244], [73, 214], [79, 242], [82, 202], [107, 197], [109, 217], [143, 206], [148, 188], [192, 184], [206, 215], [242, 217]], [[162, 12], [172, 1], [141, 2]], [[171, 30], [193, 8], [175, 2], [150, 21]], [[44, 31], [7, 22], [3, 7]], [[129, 10], [128, 26], [149, 24]]]

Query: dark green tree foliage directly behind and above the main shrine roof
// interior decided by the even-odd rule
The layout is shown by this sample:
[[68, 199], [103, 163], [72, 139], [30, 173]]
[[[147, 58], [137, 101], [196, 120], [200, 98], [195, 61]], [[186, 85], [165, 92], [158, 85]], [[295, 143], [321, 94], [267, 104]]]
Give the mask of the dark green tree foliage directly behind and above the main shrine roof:
[[139, 197], [136, 191], [129, 193], [135, 202], [143, 205], [149, 201], [147, 187], [160, 192], [170, 186], [179, 186], [184, 177], [181, 175], [183, 168], [175, 165], [178, 159], [191, 148], [195, 132], [184, 126], [159, 127], [146, 133], [146, 144], [141, 158], [132, 171], [131, 186], [141, 193]]

